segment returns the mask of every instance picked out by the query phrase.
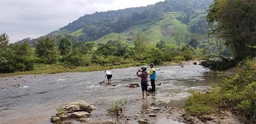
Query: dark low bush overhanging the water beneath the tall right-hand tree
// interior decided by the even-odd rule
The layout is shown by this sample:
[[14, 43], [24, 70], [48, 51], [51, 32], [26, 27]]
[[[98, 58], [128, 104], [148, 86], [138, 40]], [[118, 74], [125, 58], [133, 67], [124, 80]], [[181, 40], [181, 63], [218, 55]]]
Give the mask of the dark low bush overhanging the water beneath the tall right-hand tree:
[[232, 68], [235, 66], [234, 59], [220, 57], [215, 59], [206, 59], [205, 61], [201, 61], [199, 65], [202, 65], [205, 68], [209, 68], [210, 70], [227, 70], [228, 68]]

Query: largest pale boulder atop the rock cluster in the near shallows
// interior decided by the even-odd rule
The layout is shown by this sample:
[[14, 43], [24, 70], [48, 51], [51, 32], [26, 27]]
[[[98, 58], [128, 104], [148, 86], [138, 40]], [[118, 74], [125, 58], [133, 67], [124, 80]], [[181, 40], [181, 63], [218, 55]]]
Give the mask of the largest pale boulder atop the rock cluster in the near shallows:
[[96, 107], [89, 105], [85, 101], [72, 102], [64, 108], [67, 113], [85, 111], [91, 113]]

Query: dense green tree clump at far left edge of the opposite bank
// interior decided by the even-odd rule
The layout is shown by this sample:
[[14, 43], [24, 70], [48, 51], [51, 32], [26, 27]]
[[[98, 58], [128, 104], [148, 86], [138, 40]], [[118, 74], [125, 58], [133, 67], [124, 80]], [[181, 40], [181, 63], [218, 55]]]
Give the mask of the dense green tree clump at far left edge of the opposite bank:
[[0, 73], [33, 70], [31, 48], [27, 42], [9, 44], [9, 37], [3, 33], [0, 36]]

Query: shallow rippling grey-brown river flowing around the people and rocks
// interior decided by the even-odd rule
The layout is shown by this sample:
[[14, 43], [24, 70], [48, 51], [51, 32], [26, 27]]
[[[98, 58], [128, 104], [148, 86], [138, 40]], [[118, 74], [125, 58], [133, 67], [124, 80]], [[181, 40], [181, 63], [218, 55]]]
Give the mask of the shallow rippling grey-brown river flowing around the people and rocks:
[[[113, 69], [112, 82], [118, 86], [98, 84], [104, 80], [104, 71], [74, 72], [41, 75], [22, 75], [0, 78], [0, 124], [52, 124], [50, 117], [56, 108], [70, 102], [84, 100], [97, 107], [92, 112], [93, 119], [109, 119], [106, 109], [119, 99], [127, 99], [126, 115], [134, 116], [147, 109], [152, 103], [141, 100], [141, 87], [125, 87], [139, 83], [136, 71], [140, 67]], [[190, 95], [189, 88], [204, 92], [212, 83], [220, 83], [220, 78], [199, 65], [160, 65], [157, 70], [156, 100], [170, 99], [170, 105], [181, 105]], [[148, 70], [149, 71], [149, 68]], [[12, 87], [20, 83], [21, 87]], [[150, 84], [150, 82], [149, 82]], [[137, 124], [137, 121], [130, 121]], [[154, 124], [182, 124], [165, 117], [155, 117]]]

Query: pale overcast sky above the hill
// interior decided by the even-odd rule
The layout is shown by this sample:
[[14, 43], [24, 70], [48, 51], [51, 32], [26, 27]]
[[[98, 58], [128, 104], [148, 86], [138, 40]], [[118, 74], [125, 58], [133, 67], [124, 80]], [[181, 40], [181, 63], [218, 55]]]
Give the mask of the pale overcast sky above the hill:
[[140, 7], [164, 0], [0, 0], [0, 33], [10, 42], [37, 38], [85, 14]]

